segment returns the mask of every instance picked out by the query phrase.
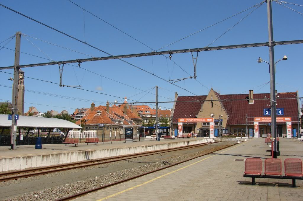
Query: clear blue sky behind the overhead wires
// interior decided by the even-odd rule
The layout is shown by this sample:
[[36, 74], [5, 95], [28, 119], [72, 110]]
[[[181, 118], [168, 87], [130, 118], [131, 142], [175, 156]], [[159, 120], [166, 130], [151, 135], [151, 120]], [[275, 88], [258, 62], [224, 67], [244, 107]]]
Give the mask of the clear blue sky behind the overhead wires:
[[[7, 1], [1, 0], [1, 4], [15, 9], [29, 17], [48, 24], [60, 31], [72, 35], [80, 40], [85, 40], [113, 55], [150, 52], [151, 49], [128, 37], [122, 32], [112, 28], [105, 22], [84, 12], [68, 0], [61, 1]], [[208, 27], [222, 19], [245, 10], [261, 0], [251, 1], [79, 1], [73, 2], [92, 12], [108, 23], [128, 33], [137, 40], [157, 50], [182, 37]], [[300, 0], [291, 0], [291, 3], [303, 4]], [[303, 15], [273, 2], [273, 27], [274, 40], [301, 40], [303, 32]], [[299, 12], [303, 7], [287, 5]], [[244, 18], [254, 8], [241, 13], [233, 18], [221, 22], [211, 28], [201, 31], [182, 41], [165, 47], [161, 50], [176, 50], [187, 48], [206, 47], [217, 37], [231, 28], [235, 23]], [[85, 21], [83, 20], [85, 18]], [[88, 47], [78, 41], [66, 37], [58, 32], [31, 21], [8, 9], [0, 7], [0, 42], [14, 35], [17, 31], [44, 41], [58, 44], [81, 53], [94, 57], [108, 56], [98, 50]], [[85, 22], [85, 29], [84, 29]], [[85, 30], [85, 35], [84, 35]], [[89, 58], [87, 55], [56, 47], [51, 44], [36, 40], [31, 37], [21, 38], [21, 51], [52, 60], [73, 60], [77, 58]], [[28, 41], [28, 40], [29, 41]], [[232, 44], [248, 44], [268, 41], [267, 8], [261, 5], [243, 21], [215, 41], [211, 46]], [[7, 41], [6, 41], [7, 42]], [[3, 46], [6, 42], [0, 44]], [[38, 47], [40, 50], [38, 50]], [[14, 49], [15, 39], [5, 47]], [[302, 96], [302, 50], [303, 44], [275, 46], [275, 60], [287, 55], [287, 61], [277, 64], [276, 89], [278, 92], [299, 91]], [[47, 56], [46, 56], [47, 55]], [[168, 56], [168, 55], [167, 55]], [[220, 91], [221, 94], [248, 93], [254, 89], [255, 93], [268, 93], [270, 90], [268, 65], [258, 63], [258, 57], [269, 60], [268, 47], [241, 48], [233, 50], [215, 50], [200, 52], [197, 63], [197, 80], [187, 79], [176, 84], [197, 95], [206, 95], [211, 88]], [[190, 53], [172, 55], [173, 61], [181, 66], [190, 75], [193, 75], [193, 64]], [[141, 67], [162, 78], [178, 79], [189, 75], [178, 66], [163, 56], [129, 58], [125, 61]], [[20, 64], [44, 63], [49, 60], [33, 57], [21, 53]], [[0, 66], [12, 66], [14, 63], [14, 51], [2, 49], [0, 51]], [[78, 64], [75, 63], [75, 66]], [[105, 105], [105, 102], [122, 100], [106, 96], [102, 93], [118, 97], [130, 97], [138, 101], [155, 101], [155, 95], [146, 94], [141, 90], [150, 90], [156, 85], [159, 89], [159, 101], [171, 101], [174, 93], [179, 96], [192, 95], [190, 92], [173, 86], [151, 74], [139, 70], [120, 60], [104, 60], [85, 62], [81, 67], [98, 73], [99, 75], [117, 80], [135, 88], [106, 79], [90, 73], [78, 67], [65, 65], [62, 84], [81, 85], [82, 89], [88, 89], [99, 93], [87, 92], [68, 87], [59, 87], [56, 84], [42, 82], [33, 79], [25, 80], [25, 89], [35, 92], [25, 92], [25, 112], [29, 106], [35, 106], [40, 112], [47, 110], [63, 109], [70, 113], [75, 108], [90, 107], [90, 102], [96, 105]], [[46, 81], [59, 82], [59, 70], [57, 65], [30, 67], [22, 69], [25, 76]], [[12, 70], [3, 70], [12, 73]], [[169, 72], [169, 73], [168, 73]], [[11, 101], [12, 76], [0, 72], [0, 102]], [[259, 87], [257, 87], [259, 86]], [[38, 92], [38, 93], [37, 93]], [[70, 97], [69, 99], [47, 96], [39, 92], [57, 94]], [[155, 89], [150, 91], [155, 93]], [[140, 93], [140, 94], [139, 94]], [[136, 95], [137, 94], [137, 95]], [[146, 94], [146, 95], [145, 95]], [[145, 95], [145, 96], [144, 96]], [[166, 97], [166, 98], [164, 98]], [[73, 98], [85, 99], [85, 101]], [[167, 99], [168, 98], [168, 99]], [[131, 102], [129, 100], [129, 102]], [[48, 106], [49, 105], [49, 106]], [[160, 104], [162, 109], [172, 108], [171, 103]], [[152, 107], [152, 105], [151, 105]]]

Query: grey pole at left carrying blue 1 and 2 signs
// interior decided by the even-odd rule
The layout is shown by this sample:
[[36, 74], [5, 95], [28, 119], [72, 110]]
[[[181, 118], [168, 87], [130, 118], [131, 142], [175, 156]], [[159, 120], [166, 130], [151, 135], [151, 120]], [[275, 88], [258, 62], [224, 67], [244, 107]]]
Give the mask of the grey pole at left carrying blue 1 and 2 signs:
[[18, 81], [19, 81], [19, 61], [20, 61], [20, 42], [21, 32], [16, 33], [16, 47], [15, 47], [15, 64], [14, 64], [14, 84], [12, 92], [12, 128], [11, 128], [11, 149], [16, 149], [17, 141], [17, 120], [15, 114], [18, 114]]

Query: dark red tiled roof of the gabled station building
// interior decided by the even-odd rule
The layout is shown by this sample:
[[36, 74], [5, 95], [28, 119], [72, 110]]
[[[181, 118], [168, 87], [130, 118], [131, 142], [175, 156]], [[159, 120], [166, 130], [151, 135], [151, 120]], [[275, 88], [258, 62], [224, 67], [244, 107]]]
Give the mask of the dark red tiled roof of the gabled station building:
[[[228, 118], [228, 125], [245, 125], [246, 114], [248, 117], [268, 117], [263, 115], [263, 109], [270, 108], [270, 94], [259, 93], [254, 94], [254, 104], [249, 104], [248, 100], [237, 100], [237, 99], [248, 99], [248, 94], [228, 94], [220, 95], [217, 93], [218, 98], [221, 100], [224, 106]], [[276, 108], [284, 108], [284, 115], [277, 115], [280, 117], [297, 117], [298, 116], [298, 103], [297, 99], [283, 99], [283, 98], [295, 98], [297, 97], [296, 92], [278, 93], [280, 98], [277, 98]], [[191, 115], [195, 117], [201, 109], [201, 104], [205, 100], [206, 96], [179, 96], [177, 101], [190, 101], [193, 99], [201, 100], [202, 102], [177, 102], [175, 105], [175, 112], [173, 115], [173, 122], [178, 122], [178, 118], [185, 118]], [[224, 99], [232, 99], [232, 101], [224, 101]], [[264, 100], [255, 100], [264, 99]], [[216, 102], [215, 102], [216, 103]], [[267, 105], [268, 104], [268, 105]], [[251, 118], [252, 119], [252, 118]], [[253, 121], [253, 120], [248, 120]], [[251, 124], [251, 123], [250, 123]]]

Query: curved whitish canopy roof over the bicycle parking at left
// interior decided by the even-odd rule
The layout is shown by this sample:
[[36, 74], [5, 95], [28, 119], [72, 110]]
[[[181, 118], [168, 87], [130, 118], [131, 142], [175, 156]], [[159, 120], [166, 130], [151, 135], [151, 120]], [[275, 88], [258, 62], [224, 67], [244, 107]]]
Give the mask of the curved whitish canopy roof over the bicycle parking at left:
[[[8, 115], [0, 114], [0, 127], [11, 127], [12, 120], [8, 120]], [[72, 122], [45, 117], [21, 116], [17, 120], [17, 127], [23, 128], [82, 128]]]

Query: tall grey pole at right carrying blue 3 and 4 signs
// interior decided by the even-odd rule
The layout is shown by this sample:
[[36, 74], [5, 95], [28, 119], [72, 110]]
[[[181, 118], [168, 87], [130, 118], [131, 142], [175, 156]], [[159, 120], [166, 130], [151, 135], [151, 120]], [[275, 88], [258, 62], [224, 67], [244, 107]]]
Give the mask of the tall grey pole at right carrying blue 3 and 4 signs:
[[[275, 95], [275, 59], [274, 59], [274, 36], [272, 31], [271, 0], [267, 0], [268, 21], [268, 47], [269, 47], [269, 71], [270, 71], [270, 100], [271, 100], [271, 134], [274, 140], [273, 158], [277, 158], [277, 131], [276, 131], [276, 95]], [[280, 154], [278, 154], [280, 155]]]

